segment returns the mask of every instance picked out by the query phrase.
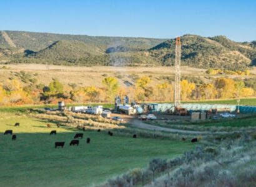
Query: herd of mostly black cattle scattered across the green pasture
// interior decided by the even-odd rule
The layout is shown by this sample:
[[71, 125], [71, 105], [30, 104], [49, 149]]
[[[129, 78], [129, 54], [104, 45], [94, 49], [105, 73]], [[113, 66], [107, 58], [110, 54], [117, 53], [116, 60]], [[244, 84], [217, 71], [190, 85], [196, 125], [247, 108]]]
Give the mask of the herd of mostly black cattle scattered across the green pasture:
[[[14, 126], [15, 126], [15, 127], [19, 127], [19, 123], [16, 123]], [[50, 128], [51, 125], [50, 125], [50, 124], [47, 124], [47, 127]], [[57, 127], [58, 127], [58, 128], [60, 127], [59, 124], [57, 124]], [[84, 127], [82, 128], [82, 130], [86, 131], [86, 129], [85, 129]], [[97, 132], [101, 132], [101, 129], [98, 129]], [[4, 132], [4, 135], [6, 135], [6, 134], [11, 134], [11, 135], [12, 135], [12, 140], [16, 140], [16, 138], [17, 138], [17, 135], [16, 135], [16, 134], [12, 134], [12, 130], [6, 130], [6, 131]], [[52, 135], [52, 134], [56, 135], [56, 134], [57, 134], [57, 131], [56, 131], [56, 130], [51, 130], [50, 135]], [[109, 130], [108, 134], [109, 134], [110, 136], [113, 136], [113, 132], [111, 132], [110, 130]], [[84, 134], [82, 134], [82, 133], [77, 133], [77, 134], [74, 136], [74, 140], [71, 140], [71, 142], [70, 142], [69, 145], [78, 145], [78, 144], [79, 144], [79, 140], [77, 140], [77, 139], [79, 139], [79, 138], [82, 139], [83, 135], [84, 135]], [[132, 137], [133, 137], [134, 139], [136, 139], [136, 138], [137, 138], [137, 135], [134, 134], [134, 135], [132, 135]], [[185, 141], [185, 138], [182, 137], [182, 140]], [[86, 143], [87, 143], [87, 144], [90, 144], [90, 141], [91, 141], [91, 139], [88, 137], [87, 140], [86, 140]], [[198, 141], [197, 138], [191, 140], [192, 143], [197, 142], [197, 141]], [[55, 142], [55, 148], [57, 148], [57, 147], [62, 147], [62, 148], [63, 148], [64, 145], [65, 145], [65, 142]]]

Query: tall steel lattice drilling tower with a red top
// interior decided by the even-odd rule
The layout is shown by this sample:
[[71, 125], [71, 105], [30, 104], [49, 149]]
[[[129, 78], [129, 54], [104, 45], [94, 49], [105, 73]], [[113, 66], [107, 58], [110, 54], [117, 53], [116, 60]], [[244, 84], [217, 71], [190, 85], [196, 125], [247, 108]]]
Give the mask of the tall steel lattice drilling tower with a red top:
[[174, 106], [180, 106], [180, 37], [176, 38], [175, 47], [175, 88], [174, 88]]

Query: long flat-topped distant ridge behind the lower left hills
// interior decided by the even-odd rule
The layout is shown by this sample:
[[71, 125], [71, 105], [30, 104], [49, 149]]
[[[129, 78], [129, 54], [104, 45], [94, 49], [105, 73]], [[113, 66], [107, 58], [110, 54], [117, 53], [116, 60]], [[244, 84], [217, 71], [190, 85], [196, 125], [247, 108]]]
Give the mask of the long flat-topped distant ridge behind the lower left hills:
[[[6, 30], [5, 32], [9, 35], [10, 39], [16, 44], [17, 47], [33, 51], [42, 50], [59, 40], [80, 41], [92, 45], [98, 45], [104, 50], [109, 47], [116, 47], [117, 45], [127, 48], [148, 49], [165, 41], [165, 39], [146, 39], [132, 37], [92, 37], [88, 35], [51, 34], [10, 30]], [[0, 35], [0, 41], [2, 40], [2, 35]], [[4, 43], [3, 45], [4, 47], [9, 47], [7, 43]]]

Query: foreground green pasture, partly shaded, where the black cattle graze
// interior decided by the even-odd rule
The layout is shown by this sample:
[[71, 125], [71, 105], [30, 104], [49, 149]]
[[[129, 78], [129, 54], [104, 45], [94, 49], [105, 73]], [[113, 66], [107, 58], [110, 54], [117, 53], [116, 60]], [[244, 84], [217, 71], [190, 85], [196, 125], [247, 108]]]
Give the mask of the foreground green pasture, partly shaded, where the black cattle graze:
[[[20, 127], [14, 127], [20, 122]], [[46, 127], [47, 122], [0, 113], [0, 186], [92, 186], [129, 169], [145, 167], [152, 158], [172, 158], [197, 144], [161, 139], [132, 139], [106, 132], [84, 132], [79, 146], [69, 146], [76, 130]], [[17, 140], [3, 135], [12, 129]], [[49, 135], [51, 130], [57, 135]], [[86, 144], [86, 138], [91, 144]], [[54, 142], [65, 141], [64, 148]]]

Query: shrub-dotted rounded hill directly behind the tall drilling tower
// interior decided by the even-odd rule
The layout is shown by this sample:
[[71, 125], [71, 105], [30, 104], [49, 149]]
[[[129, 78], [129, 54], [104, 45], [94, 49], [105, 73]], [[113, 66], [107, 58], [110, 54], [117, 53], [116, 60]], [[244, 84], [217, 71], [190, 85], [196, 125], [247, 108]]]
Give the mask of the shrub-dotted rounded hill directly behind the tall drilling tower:
[[[198, 35], [184, 35], [180, 38], [182, 43], [182, 64], [200, 68], [245, 68], [252, 63], [250, 55], [233, 50], [225, 46], [226, 43]], [[237, 44], [242, 45], [242, 44]], [[240, 48], [246, 48], [244, 45]], [[240, 49], [239, 48], [239, 49]], [[152, 56], [162, 65], [175, 63], [175, 39], [160, 43], [150, 50]], [[256, 54], [256, 51], [254, 52]]]

